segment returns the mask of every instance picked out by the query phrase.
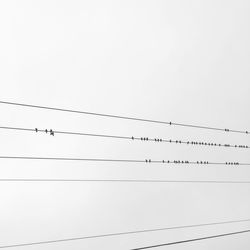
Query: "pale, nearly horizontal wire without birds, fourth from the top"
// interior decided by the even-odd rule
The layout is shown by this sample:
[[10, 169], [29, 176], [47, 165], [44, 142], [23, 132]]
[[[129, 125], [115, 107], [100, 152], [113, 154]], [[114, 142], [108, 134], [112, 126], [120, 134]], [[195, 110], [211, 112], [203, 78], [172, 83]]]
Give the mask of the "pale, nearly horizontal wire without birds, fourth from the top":
[[113, 182], [113, 183], [207, 183], [207, 184], [250, 184], [250, 181], [195, 181], [195, 180], [141, 180], [141, 179], [0, 179], [0, 182]]

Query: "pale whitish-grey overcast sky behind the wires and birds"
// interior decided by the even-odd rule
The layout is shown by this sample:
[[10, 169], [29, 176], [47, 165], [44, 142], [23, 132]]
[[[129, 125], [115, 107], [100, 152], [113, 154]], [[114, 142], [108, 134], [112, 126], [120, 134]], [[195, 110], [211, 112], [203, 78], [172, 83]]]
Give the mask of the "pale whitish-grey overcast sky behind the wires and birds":
[[[250, 129], [250, 2], [1, 1], [0, 100]], [[0, 104], [0, 126], [250, 144], [249, 135]], [[250, 162], [249, 149], [0, 131], [0, 155]], [[249, 181], [249, 166], [0, 160], [1, 178]], [[250, 219], [249, 184], [0, 183], [0, 246]], [[13, 249], [129, 250], [238, 223]], [[249, 234], [162, 247], [249, 249]]]

